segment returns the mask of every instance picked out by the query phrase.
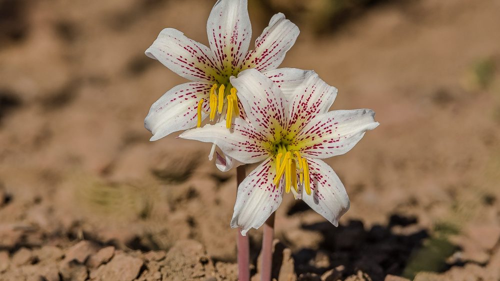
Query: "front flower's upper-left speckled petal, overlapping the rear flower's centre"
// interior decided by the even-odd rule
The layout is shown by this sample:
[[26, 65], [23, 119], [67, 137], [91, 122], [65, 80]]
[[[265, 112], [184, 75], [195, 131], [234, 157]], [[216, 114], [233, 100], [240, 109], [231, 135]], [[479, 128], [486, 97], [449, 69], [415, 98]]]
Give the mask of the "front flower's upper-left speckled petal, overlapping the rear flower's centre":
[[237, 78], [231, 77], [231, 84], [237, 89], [249, 123], [270, 141], [278, 139], [285, 130], [288, 114], [278, 86], [254, 68], [241, 71]]

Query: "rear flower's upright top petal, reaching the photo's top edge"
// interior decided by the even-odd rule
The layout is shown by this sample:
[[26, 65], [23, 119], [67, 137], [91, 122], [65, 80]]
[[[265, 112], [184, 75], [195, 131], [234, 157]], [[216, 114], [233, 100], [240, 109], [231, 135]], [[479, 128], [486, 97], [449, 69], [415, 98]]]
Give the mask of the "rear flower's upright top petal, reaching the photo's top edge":
[[218, 0], [208, 16], [206, 34], [214, 60], [231, 75], [240, 68], [250, 44], [247, 0]]

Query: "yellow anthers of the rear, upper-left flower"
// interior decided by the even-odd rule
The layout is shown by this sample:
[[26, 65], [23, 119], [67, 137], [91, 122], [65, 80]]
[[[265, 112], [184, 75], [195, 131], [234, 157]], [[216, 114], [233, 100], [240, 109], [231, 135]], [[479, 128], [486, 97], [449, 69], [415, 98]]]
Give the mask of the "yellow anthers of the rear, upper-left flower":
[[[206, 114], [209, 114], [210, 121], [213, 121], [215, 119], [215, 114], [218, 112], [219, 114], [222, 113], [222, 109], [224, 108], [224, 93], [225, 93], [225, 86], [224, 84], [221, 84], [219, 89], [218, 89], [218, 95], [215, 94], [215, 90], [217, 89], [217, 84], [213, 84], [212, 88], [210, 89], [210, 111], [206, 112]], [[230, 93], [225, 96], [227, 100], [227, 109], [226, 109], [226, 117], [225, 117], [225, 127], [230, 128], [231, 127], [231, 122], [232, 122], [232, 116], [233, 113], [235, 116], [239, 116], [239, 106], [238, 106], [238, 97], [236, 95], [236, 88], [231, 87]], [[203, 109], [203, 102], [205, 101], [204, 98], [201, 98], [198, 101], [198, 123], [196, 124], [197, 127], [201, 126], [201, 110]], [[204, 110], [203, 110], [204, 111]]]

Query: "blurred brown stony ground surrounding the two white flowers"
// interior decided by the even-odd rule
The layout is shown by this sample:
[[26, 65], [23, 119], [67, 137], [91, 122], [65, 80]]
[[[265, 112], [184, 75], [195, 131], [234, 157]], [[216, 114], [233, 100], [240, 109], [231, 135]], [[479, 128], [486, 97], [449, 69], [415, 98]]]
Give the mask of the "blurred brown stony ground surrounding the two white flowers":
[[[380, 122], [327, 160], [339, 227], [285, 196], [273, 276], [499, 280], [500, 2], [249, 2], [253, 38], [278, 11], [299, 26], [282, 66]], [[235, 171], [143, 128], [185, 81], [144, 50], [164, 27], [207, 44], [213, 4], [0, 0], [0, 280], [236, 279]]]

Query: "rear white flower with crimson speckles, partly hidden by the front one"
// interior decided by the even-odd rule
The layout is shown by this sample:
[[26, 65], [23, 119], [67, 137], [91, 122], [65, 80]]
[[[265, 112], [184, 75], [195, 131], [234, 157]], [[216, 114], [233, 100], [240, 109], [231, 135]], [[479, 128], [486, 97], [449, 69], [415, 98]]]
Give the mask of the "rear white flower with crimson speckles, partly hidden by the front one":
[[[163, 29], [145, 51], [192, 82], [177, 85], [151, 105], [144, 126], [157, 140], [172, 132], [229, 119], [240, 113], [237, 91], [229, 78], [243, 69], [275, 69], [298, 36], [298, 27], [277, 13], [248, 51], [251, 25], [247, 0], [218, 0], [206, 24], [209, 47], [173, 28]], [[275, 73], [268, 74], [275, 75]]]

